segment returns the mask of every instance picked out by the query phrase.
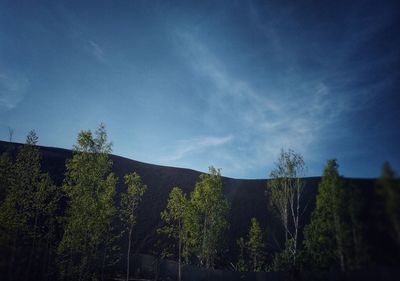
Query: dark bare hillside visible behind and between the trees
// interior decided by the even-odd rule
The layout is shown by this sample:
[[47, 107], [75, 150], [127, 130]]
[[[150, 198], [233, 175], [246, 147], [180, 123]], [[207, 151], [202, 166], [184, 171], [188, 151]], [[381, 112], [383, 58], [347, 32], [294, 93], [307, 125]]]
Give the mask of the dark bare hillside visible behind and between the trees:
[[[0, 141], [0, 152], [8, 151], [15, 155], [16, 149], [21, 144]], [[62, 184], [65, 172], [65, 160], [71, 158], [72, 151], [67, 149], [40, 147], [42, 152], [42, 167], [49, 172], [57, 185]], [[157, 242], [156, 229], [160, 227], [160, 212], [165, 208], [169, 191], [174, 186], [182, 188], [190, 193], [200, 172], [183, 169], [147, 164], [124, 157], [110, 155], [113, 161], [113, 172], [118, 176], [117, 190], [124, 189], [122, 182], [126, 173], [135, 171], [142, 177], [143, 183], [148, 186], [148, 191], [143, 197], [138, 213], [138, 223], [134, 233], [134, 249], [136, 252], [148, 253]], [[267, 173], [267, 171], [266, 171]], [[302, 225], [308, 223], [310, 213], [314, 209], [315, 195], [320, 181], [319, 177], [306, 178], [304, 202], [307, 204], [303, 216]], [[354, 179], [350, 180], [355, 186], [372, 190], [373, 180]], [[268, 208], [268, 198], [265, 194], [267, 180], [244, 180], [223, 178], [224, 192], [231, 204], [230, 228], [226, 235], [228, 248], [233, 252], [229, 256], [236, 256], [236, 239], [248, 233], [250, 219], [256, 217], [263, 229], [266, 229], [268, 242], [267, 247], [271, 250], [278, 248], [281, 226], [277, 223], [276, 216]]]

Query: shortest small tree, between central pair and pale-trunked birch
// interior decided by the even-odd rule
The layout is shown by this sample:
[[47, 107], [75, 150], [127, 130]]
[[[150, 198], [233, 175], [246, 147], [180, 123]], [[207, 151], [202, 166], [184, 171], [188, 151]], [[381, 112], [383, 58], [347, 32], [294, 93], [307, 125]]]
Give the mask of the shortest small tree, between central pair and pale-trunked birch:
[[260, 270], [259, 259], [262, 254], [264, 242], [262, 238], [261, 227], [256, 218], [251, 219], [249, 237], [246, 246], [247, 250], [249, 251], [250, 257], [252, 258], [253, 271]]

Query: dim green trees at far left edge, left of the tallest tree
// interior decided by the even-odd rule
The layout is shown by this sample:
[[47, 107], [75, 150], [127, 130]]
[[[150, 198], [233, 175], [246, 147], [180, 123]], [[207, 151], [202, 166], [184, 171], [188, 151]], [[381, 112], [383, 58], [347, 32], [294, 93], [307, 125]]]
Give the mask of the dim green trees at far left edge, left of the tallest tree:
[[45, 259], [54, 252], [60, 193], [50, 176], [41, 171], [37, 141], [35, 131], [30, 131], [26, 144], [18, 149], [15, 163], [8, 155], [0, 161], [4, 190], [0, 243], [7, 249], [3, 257], [8, 261], [9, 278], [49, 275], [51, 270]]

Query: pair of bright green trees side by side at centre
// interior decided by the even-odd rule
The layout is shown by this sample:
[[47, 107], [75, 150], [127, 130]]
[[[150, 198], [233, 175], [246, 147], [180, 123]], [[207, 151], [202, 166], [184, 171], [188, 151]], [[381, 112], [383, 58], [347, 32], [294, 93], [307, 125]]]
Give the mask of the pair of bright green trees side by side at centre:
[[171, 190], [167, 207], [161, 213], [165, 225], [159, 232], [177, 243], [179, 280], [182, 256], [185, 263], [196, 258], [205, 268], [214, 267], [228, 227], [229, 208], [222, 193], [220, 171], [214, 167], [209, 168], [208, 174], [200, 175], [190, 197], [179, 187]]

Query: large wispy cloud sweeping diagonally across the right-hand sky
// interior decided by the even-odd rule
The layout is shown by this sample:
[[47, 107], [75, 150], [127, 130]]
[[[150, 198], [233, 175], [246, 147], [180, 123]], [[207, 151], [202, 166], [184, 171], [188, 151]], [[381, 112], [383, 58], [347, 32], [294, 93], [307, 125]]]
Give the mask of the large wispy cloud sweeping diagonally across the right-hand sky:
[[[234, 145], [228, 153], [234, 159], [226, 159], [225, 171], [238, 173], [232, 163], [241, 163], [237, 169], [248, 170], [272, 165], [281, 148], [292, 148], [305, 158], [313, 158], [313, 146], [322, 130], [337, 122], [349, 107], [349, 101], [335, 95], [323, 78], [312, 81], [293, 78], [287, 81], [289, 89], [267, 85], [265, 90], [255, 90], [251, 81], [231, 74], [223, 59], [203, 42], [190, 33], [177, 34], [192, 70], [213, 85], [205, 94], [209, 103], [205, 120], [232, 130]], [[229, 120], [228, 124], [218, 123], [221, 115], [225, 122]]]

